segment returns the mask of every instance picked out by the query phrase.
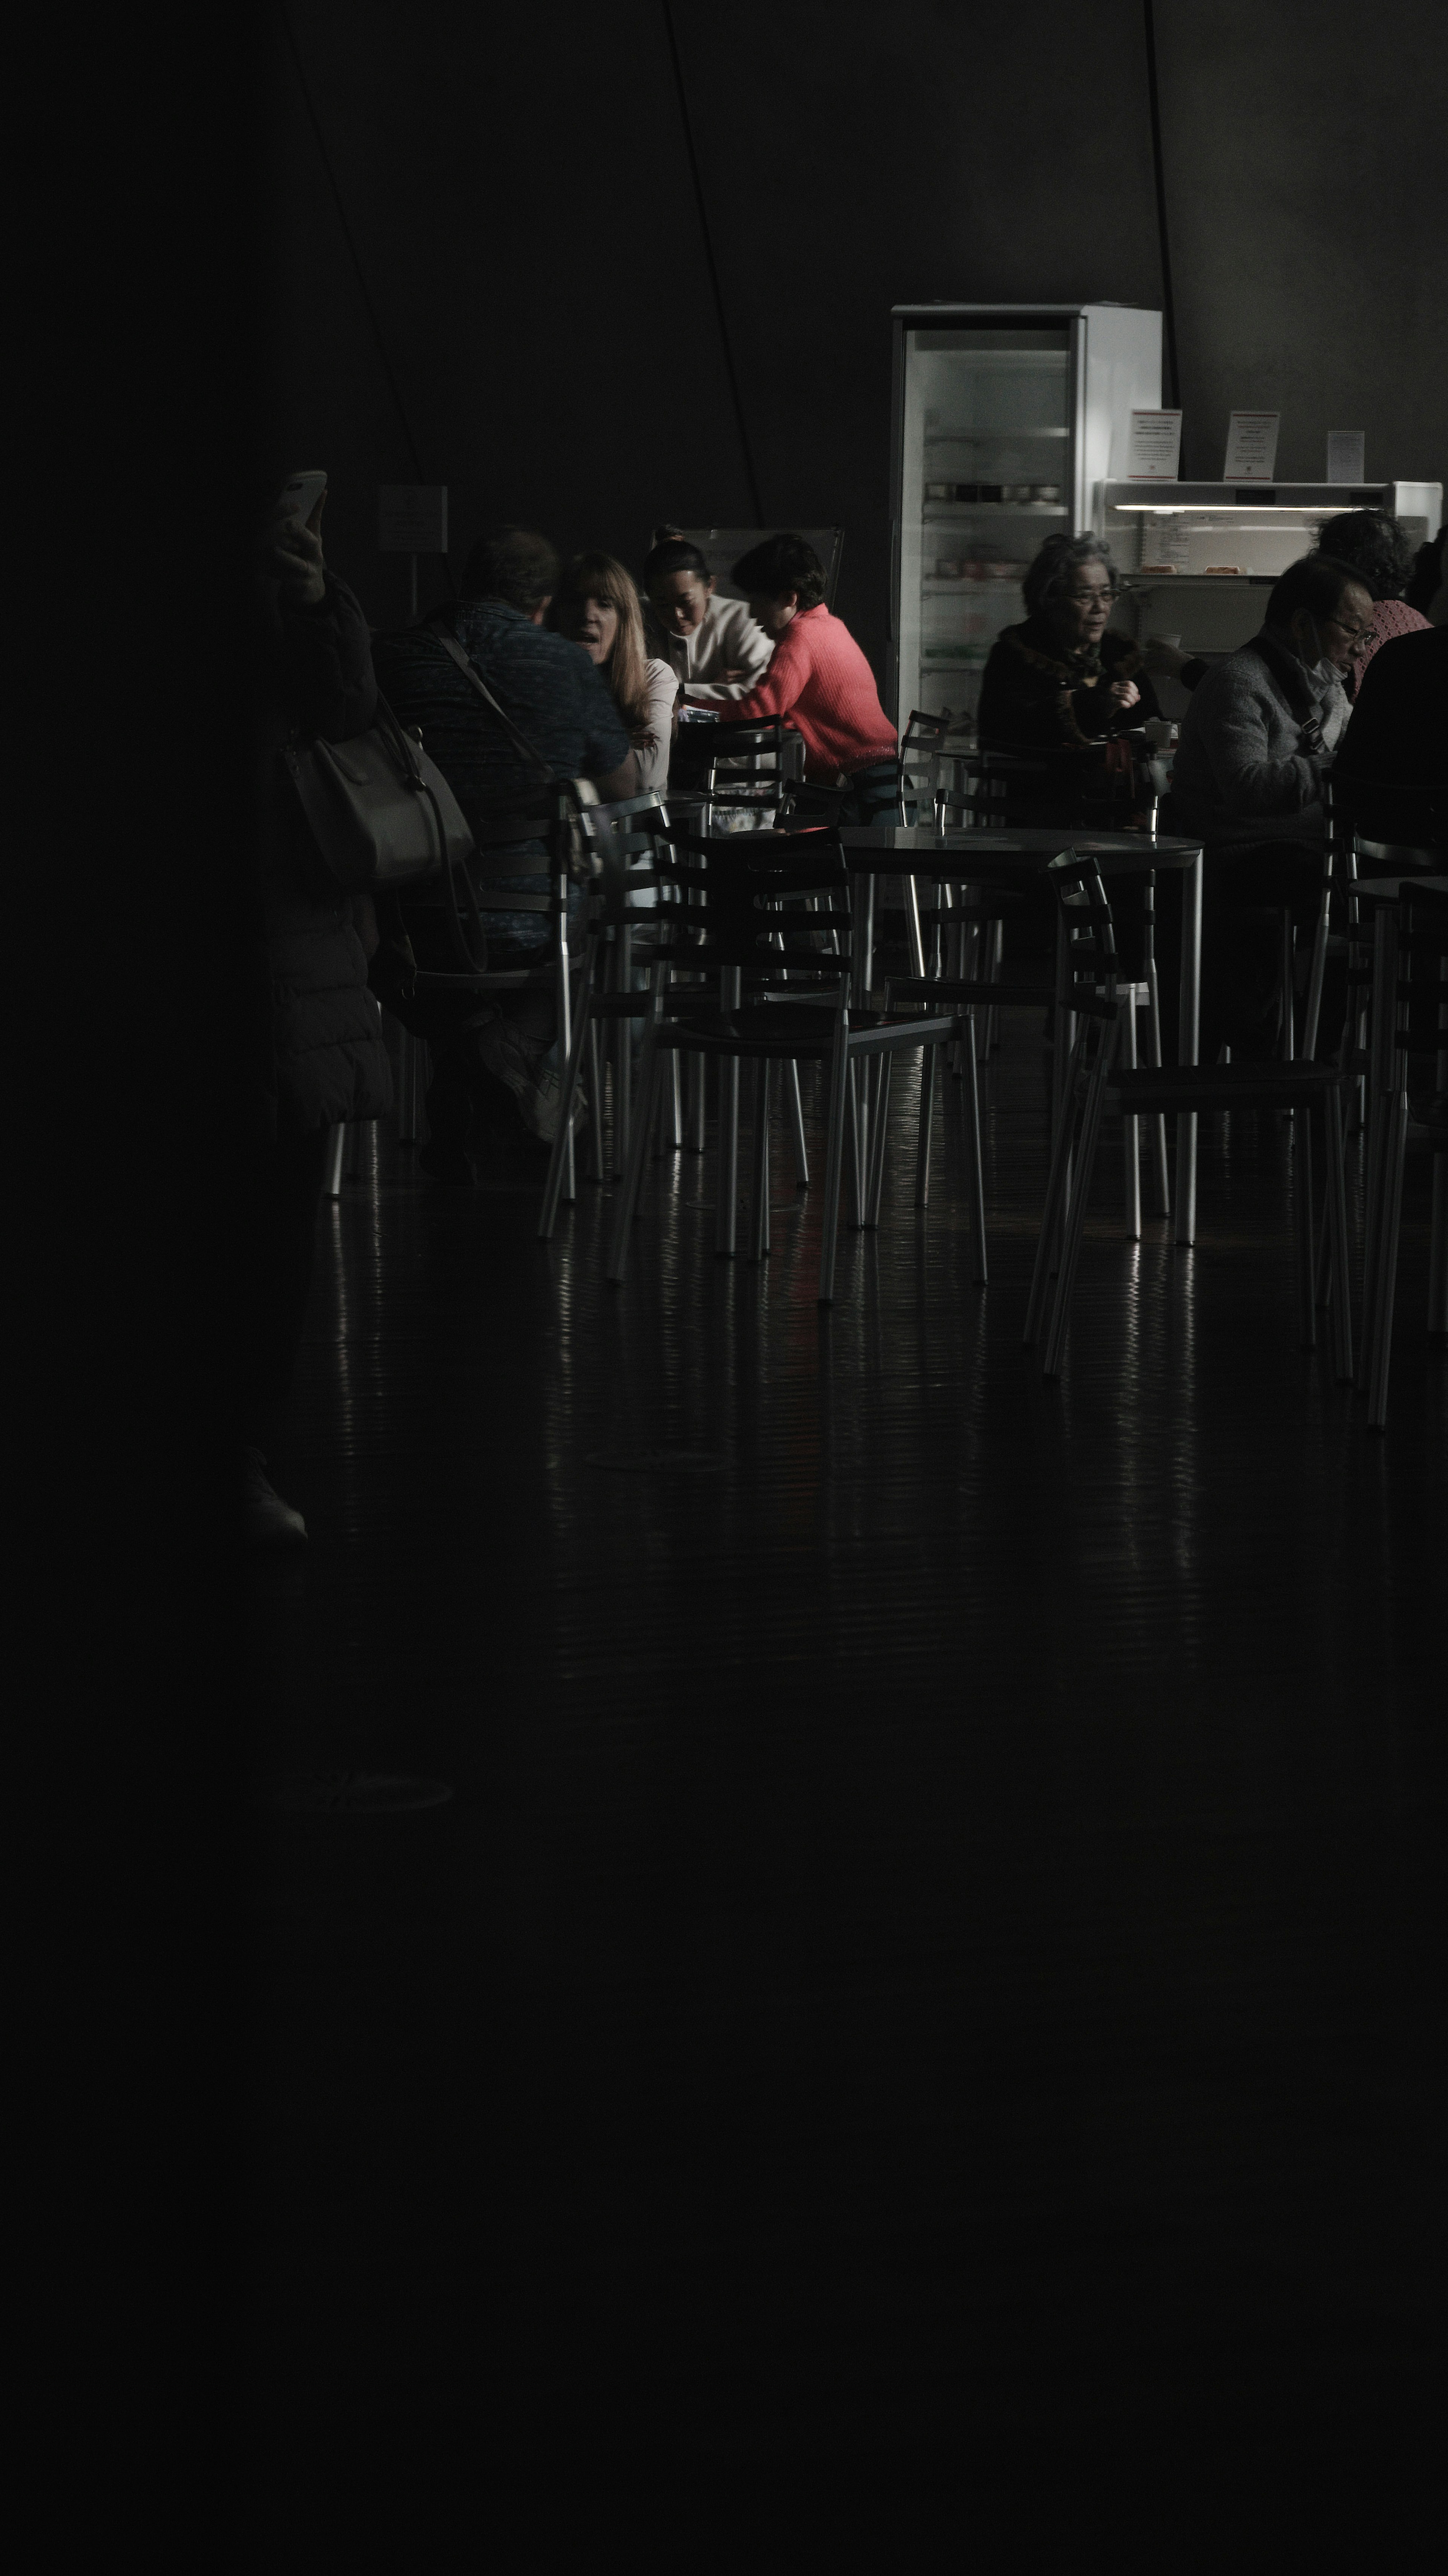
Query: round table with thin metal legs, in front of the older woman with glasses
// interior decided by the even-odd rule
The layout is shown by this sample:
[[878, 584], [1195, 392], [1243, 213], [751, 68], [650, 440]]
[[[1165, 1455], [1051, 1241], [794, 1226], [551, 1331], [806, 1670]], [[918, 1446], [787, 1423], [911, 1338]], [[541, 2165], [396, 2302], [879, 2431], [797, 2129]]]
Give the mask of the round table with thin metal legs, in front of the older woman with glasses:
[[[1183, 878], [1183, 958], [1180, 958], [1180, 1043], [1177, 1061], [1198, 1061], [1201, 1038], [1201, 842], [1175, 840], [1165, 832], [1069, 832], [1064, 827], [1031, 824], [1000, 832], [933, 832], [922, 824], [845, 824], [840, 832], [845, 860], [853, 876], [863, 876], [863, 902], [855, 920], [855, 974], [858, 989], [871, 984], [876, 881], [881, 876], [904, 878], [910, 945], [922, 974], [920, 914], [915, 904], [917, 878], [989, 876], [997, 884], [1010, 878], [1043, 876], [1049, 863], [1064, 850], [1095, 858], [1105, 884], [1129, 876], [1180, 876]], [[861, 866], [876, 858], [879, 868]], [[1196, 1113], [1177, 1115], [1177, 1244], [1196, 1242]]]

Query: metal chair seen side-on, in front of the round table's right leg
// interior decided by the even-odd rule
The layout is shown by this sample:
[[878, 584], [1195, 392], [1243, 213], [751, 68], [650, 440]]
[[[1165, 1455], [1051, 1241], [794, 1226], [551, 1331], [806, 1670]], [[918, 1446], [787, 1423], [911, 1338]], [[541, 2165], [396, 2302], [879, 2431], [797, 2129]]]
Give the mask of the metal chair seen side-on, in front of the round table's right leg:
[[[1175, 1064], [1118, 1069], [1121, 1010], [1116, 994], [1116, 927], [1110, 902], [1092, 858], [1074, 850], [1051, 860], [1051, 884], [1062, 907], [1069, 1005], [1077, 1038], [1067, 1061], [1064, 1115], [1051, 1146], [1046, 1208], [1036, 1244], [1031, 1298], [1025, 1306], [1025, 1345], [1046, 1332], [1043, 1376], [1062, 1376], [1062, 1352], [1072, 1285], [1082, 1247], [1085, 1211], [1108, 1108], [1131, 1113], [1180, 1110], [1291, 1110], [1296, 1159], [1296, 1249], [1301, 1345], [1317, 1345], [1314, 1221], [1311, 1221], [1311, 1110], [1322, 1108], [1327, 1128], [1327, 1206], [1332, 1244], [1332, 1352], [1337, 1378], [1353, 1376], [1353, 1321], [1348, 1311], [1348, 1200], [1342, 1188], [1342, 1072], [1335, 1064]], [[1059, 1229], [1056, 1283], [1051, 1257]]]

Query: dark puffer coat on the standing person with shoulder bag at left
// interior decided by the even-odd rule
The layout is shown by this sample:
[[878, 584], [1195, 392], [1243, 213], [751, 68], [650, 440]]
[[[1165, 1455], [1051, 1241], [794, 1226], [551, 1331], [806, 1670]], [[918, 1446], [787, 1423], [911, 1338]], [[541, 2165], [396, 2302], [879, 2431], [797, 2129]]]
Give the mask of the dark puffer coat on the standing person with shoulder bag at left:
[[327, 574], [317, 608], [291, 605], [276, 582], [258, 603], [263, 675], [260, 935], [268, 969], [263, 1084], [268, 1118], [314, 1131], [392, 1108], [392, 1066], [358, 935], [368, 907], [338, 894], [304, 822], [281, 744], [348, 742], [376, 711], [371, 641], [358, 600]]

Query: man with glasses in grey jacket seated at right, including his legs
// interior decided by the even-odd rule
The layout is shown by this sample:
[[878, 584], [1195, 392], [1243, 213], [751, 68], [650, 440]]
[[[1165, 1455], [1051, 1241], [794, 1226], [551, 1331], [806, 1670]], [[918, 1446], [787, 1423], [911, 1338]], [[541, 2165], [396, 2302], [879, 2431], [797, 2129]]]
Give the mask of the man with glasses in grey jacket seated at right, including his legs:
[[[1373, 631], [1348, 564], [1306, 554], [1268, 595], [1262, 631], [1216, 662], [1183, 716], [1162, 822], [1206, 845], [1201, 1061], [1273, 1051], [1278, 930], [1322, 884], [1322, 781], [1348, 729], [1345, 672]], [[1319, 1043], [1327, 1012], [1319, 1023]]]

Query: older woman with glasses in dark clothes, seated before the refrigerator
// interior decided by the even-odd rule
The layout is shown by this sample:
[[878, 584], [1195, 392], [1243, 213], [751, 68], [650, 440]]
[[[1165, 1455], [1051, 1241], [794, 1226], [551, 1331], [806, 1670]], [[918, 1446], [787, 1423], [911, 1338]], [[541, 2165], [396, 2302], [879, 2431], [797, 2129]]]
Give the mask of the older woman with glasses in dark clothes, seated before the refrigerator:
[[1118, 587], [1098, 536], [1049, 536], [1020, 585], [1025, 623], [992, 644], [979, 739], [987, 752], [1049, 755], [1031, 819], [1077, 822], [1082, 804], [1100, 814], [1113, 773], [1129, 793], [1118, 737], [1162, 714], [1134, 639], [1110, 629]]

